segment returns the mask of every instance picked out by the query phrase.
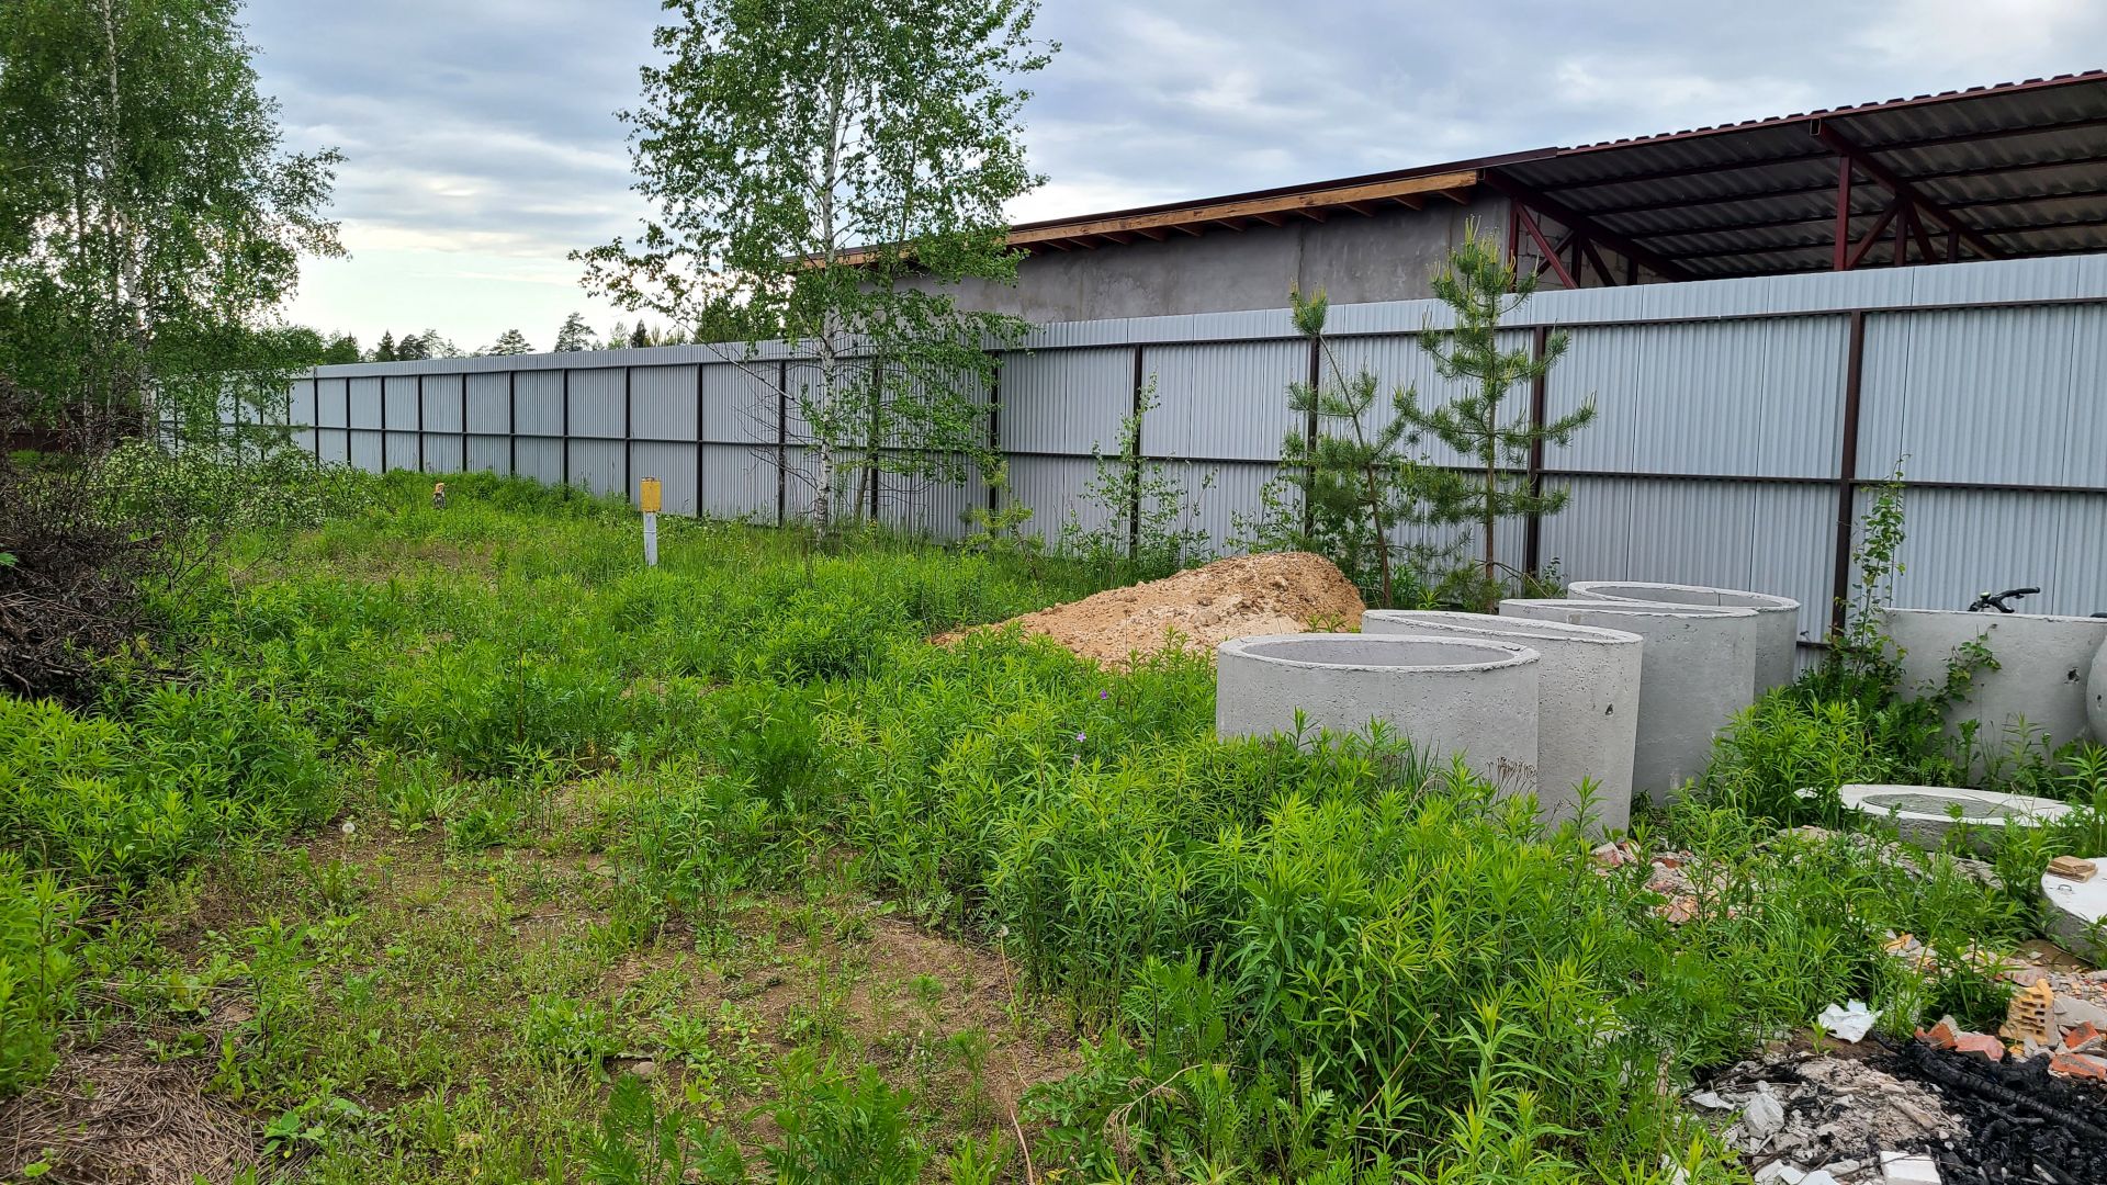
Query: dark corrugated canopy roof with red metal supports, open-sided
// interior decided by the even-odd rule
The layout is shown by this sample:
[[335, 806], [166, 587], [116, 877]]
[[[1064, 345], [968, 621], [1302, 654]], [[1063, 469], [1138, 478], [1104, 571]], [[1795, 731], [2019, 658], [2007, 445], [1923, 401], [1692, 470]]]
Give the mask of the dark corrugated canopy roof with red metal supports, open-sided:
[[2107, 72], [2063, 74], [1557, 150], [1502, 164], [1509, 181], [1656, 251], [1696, 276], [1833, 266], [1839, 150], [1852, 145], [1850, 236], [1882, 226], [1915, 190], [1917, 228], [1882, 226], [1863, 266], [1989, 255], [1924, 207], [1938, 207], [2002, 255], [2107, 251]]

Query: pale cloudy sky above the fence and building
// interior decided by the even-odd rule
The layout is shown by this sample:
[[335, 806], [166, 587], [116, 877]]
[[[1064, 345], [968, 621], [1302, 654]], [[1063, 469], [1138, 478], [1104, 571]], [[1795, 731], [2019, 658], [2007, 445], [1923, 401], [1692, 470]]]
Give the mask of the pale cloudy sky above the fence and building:
[[[293, 148], [335, 145], [350, 259], [291, 316], [371, 344], [518, 327], [634, 228], [615, 110], [655, 0], [251, 0]], [[1043, 0], [1035, 219], [1587, 143], [2107, 63], [2101, 0]]]

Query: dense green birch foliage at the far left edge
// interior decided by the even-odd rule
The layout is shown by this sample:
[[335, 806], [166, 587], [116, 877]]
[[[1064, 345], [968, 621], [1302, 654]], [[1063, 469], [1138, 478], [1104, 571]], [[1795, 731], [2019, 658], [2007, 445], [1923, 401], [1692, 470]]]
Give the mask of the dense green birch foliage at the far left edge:
[[[217, 441], [225, 401], [276, 409], [312, 344], [270, 320], [339, 156], [284, 154], [240, 4], [21, 0], [0, 8], [0, 375], [29, 424], [99, 451], [143, 405]], [[175, 150], [179, 145], [179, 150]]]

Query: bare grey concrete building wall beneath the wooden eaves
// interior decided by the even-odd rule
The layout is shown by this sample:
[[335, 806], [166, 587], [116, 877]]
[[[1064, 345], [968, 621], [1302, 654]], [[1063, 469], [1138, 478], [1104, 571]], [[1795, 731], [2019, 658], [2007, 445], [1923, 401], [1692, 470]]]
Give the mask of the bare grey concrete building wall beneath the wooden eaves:
[[1393, 205], [1374, 217], [1342, 211], [1327, 221], [1252, 221], [1241, 232], [1212, 226], [1199, 238], [1174, 230], [1161, 242], [1138, 236], [1125, 247], [1032, 255], [1018, 264], [1016, 287], [986, 280], [921, 287], [950, 291], [965, 308], [1026, 320], [1281, 308], [1289, 287], [1325, 289], [1332, 304], [1420, 299], [1473, 217], [1485, 234], [1504, 236], [1507, 198], [1479, 196], [1464, 207], [1429, 196], [1418, 211]]

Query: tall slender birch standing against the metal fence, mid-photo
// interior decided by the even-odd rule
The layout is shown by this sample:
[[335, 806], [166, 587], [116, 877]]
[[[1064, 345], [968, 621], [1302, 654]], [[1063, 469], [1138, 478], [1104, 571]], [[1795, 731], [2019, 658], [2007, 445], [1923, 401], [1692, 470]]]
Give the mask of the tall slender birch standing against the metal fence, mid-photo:
[[[815, 462], [815, 536], [851, 474], [963, 479], [986, 445], [988, 350], [1024, 323], [961, 310], [944, 287], [1016, 278], [1003, 205], [1041, 181], [1018, 80], [1056, 48], [1030, 36], [1037, 0], [666, 11], [666, 61], [624, 112], [657, 217], [579, 253], [586, 287], [674, 325], [744, 327], [744, 352], [721, 346], [735, 361], [775, 333], [811, 354], [788, 394], [792, 443]], [[754, 375], [775, 386], [775, 367]]]

